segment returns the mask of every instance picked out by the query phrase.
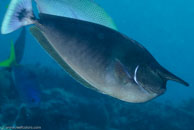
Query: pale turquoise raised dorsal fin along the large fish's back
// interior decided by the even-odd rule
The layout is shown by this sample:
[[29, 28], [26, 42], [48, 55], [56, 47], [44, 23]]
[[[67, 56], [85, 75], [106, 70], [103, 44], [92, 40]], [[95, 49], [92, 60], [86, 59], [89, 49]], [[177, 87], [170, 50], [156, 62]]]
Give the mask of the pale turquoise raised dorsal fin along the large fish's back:
[[43, 14], [88, 21], [117, 30], [113, 19], [94, 0], [35, 0]]

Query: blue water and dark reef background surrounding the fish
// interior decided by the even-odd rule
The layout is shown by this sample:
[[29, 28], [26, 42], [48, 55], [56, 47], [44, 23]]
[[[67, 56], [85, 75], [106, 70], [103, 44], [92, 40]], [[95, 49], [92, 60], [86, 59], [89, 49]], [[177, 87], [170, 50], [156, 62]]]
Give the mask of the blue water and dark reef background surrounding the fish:
[[[9, 2], [0, 1], [0, 23]], [[43, 130], [194, 130], [194, 1], [96, 2], [113, 18], [120, 32], [139, 41], [190, 87], [169, 81], [166, 93], [148, 103], [119, 101], [73, 80], [27, 29], [21, 64], [34, 73], [40, 84], [40, 102], [36, 107], [22, 106], [10, 72], [1, 69], [0, 129], [15, 124], [40, 126]], [[0, 34], [0, 61], [9, 57], [10, 42], [20, 32]]]

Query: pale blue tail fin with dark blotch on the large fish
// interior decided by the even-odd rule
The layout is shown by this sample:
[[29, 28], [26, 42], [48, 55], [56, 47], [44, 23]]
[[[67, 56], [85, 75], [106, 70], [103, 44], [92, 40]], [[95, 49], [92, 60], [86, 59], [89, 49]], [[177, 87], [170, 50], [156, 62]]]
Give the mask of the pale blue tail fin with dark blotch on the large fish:
[[35, 22], [31, 0], [12, 0], [5, 14], [1, 33], [11, 33], [18, 28]]

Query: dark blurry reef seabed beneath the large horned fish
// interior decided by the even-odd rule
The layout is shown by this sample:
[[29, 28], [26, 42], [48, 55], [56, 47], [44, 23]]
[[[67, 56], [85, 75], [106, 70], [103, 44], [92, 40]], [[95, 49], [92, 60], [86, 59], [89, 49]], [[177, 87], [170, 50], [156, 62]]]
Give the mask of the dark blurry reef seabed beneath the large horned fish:
[[0, 71], [0, 126], [41, 126], [43, 130], [193, 130], [194, 99], [171, 103], [125, 103], [76, 83], [63, 71], [28, 66], [37, 76], [41, 100], [21, 106], [9, 70]]

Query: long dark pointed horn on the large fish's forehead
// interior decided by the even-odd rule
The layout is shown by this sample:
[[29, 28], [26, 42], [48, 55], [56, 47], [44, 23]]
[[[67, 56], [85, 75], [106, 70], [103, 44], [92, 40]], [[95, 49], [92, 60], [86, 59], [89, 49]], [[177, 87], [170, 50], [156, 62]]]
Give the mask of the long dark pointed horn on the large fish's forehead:
[[169, 71], [167, 71], [166, 69], [164, 69], [163, 67], [161, 67], [159, 69], [159, 74], [165, 78], [166, 80], [173, 80], [176, 82], [179, 82], [185, 86], [189, 86], [189, 84], [187, 82], [185, 82], [184, 80], [182, 80], [181, 78], [177, 77], [176, 75], [170, 73]]

